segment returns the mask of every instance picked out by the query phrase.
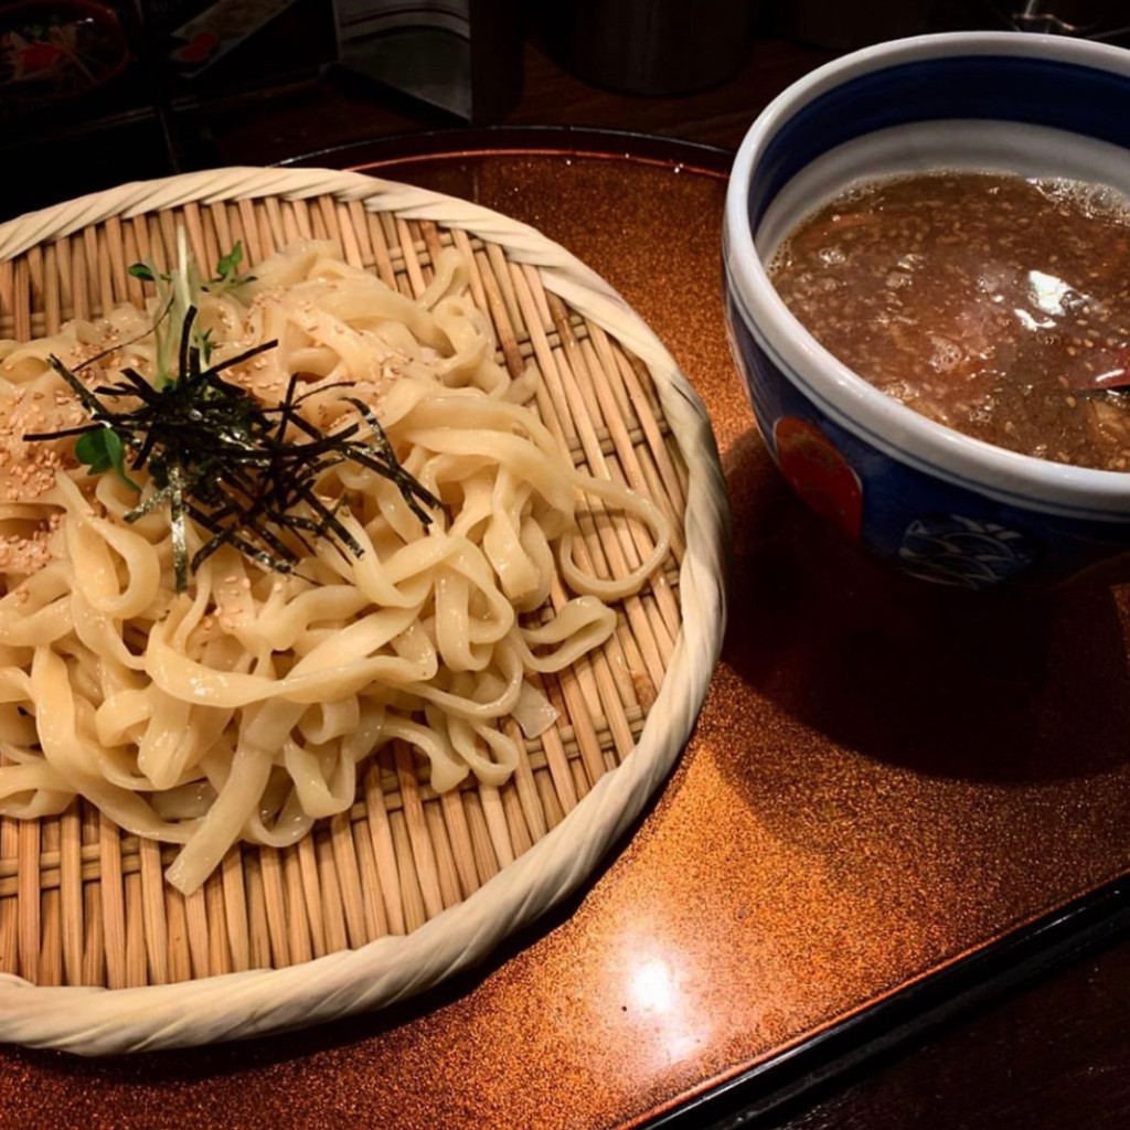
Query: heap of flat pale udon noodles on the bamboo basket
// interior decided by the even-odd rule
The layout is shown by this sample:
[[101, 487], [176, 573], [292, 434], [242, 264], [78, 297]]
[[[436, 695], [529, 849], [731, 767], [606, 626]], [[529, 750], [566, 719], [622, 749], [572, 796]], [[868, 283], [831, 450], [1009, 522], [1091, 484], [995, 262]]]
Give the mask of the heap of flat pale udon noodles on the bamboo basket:
[[[414, 747], [437, 790], [504, 782], [523, 734], [553, 724], [538, 676], [607, 641], [610, 603], [668, 548], [660, 512], [579, 471], [528, 406], [530, 377], [495, 362], [457, 253], [418, 301], [325, 244], [254, 273], [199, 296], [217, 357], [278, 341], [226, 379], [277, 403], [299, 374], [304, 393], [325, 389], [302, 411], [328, 433], [346, 411], [330, 386], [348, 382], [442, 501], [431, 524], [344, 462], [318, 492], [362, 554], [321, 538], [282, 574], [224, 546], [177, 592], [168, 511], [127, 522], [138, 496], [80, 466], [72, 437], [24, 438], [88, 423], [52, 354], [89, 388], [127, 366], [153, 377], [156, 304], [0, 341], [0, 812], [34, 819], [81, 796], [182, 845], [166, 876], [184, 892], [240, 840], [288, 845], [348, 810], [358, 764], [389, 742]], [[577, 562], [591, 499], [646, 531], [625, 576]], [[191, 522], [188, 536], [190, 551], [207, 541]]]

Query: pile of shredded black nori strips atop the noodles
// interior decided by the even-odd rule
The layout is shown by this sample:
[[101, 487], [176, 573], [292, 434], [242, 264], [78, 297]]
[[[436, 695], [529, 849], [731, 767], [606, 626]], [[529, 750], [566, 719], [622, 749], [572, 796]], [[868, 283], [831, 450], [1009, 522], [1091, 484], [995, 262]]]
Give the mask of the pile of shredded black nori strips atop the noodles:
[[[419, 521], [432, 522], [428, 507], [440, 507], [440, 499], [401, 467], [368, 405], [344, 397], [356, 409], [357, 419], [329, 434], [298, 414], [307, 397], [350, 388], [348, 383], [297, 394], [295, 374], [284, 399], [267, 407], [220, 374], [278, 342], [267, 341], [219, 364], [205, 365], [192, 333], [195, 315], [195, 307], [190, 306], [181, 330], [179, 376], [159, 389], [136, 370], [123, 368], [120, 382], [92, 390], [52, 355], [52, 368], [75, 391], [92, 423], [24, 436], [58, 440], [99, 428], [118, 434], [129, 452], [130, 468], [148, 470], [156, 487], [125, 520], [136, 522], [157, 506], [168, 506], [179, 592], [188, 588], [190, 571], [221, 546], [278, 573], [293, 573], [301, 560], [299, 549], [312, 553], [312, 539], [318, 538], [329, 538], [362, 557], [362, 546], [337, 516], [339, 504], [327, 503], [315, 489], [329, 468], [346, 461], [392, 481]], [[124, 398], [136, 407], [115, 407]], [[191, 560], [188, 518], [211, 534]]]

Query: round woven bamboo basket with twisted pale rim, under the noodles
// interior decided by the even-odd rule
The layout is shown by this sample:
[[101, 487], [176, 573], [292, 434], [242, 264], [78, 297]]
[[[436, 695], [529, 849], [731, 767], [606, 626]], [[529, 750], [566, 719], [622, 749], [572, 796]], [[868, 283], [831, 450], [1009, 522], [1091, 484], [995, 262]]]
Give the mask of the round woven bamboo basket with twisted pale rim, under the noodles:
[[[557, 724], [502, 788], [436, 794], [411, 755], [371, 759], [351, 810], [290, 849], [234, 847], [190, 896], [160, 844], [84, 801], [0, 819], [0, 1040], [102, 1054], [246, 1037], [377, 1008], [486, 956], [573, 892], [689, 737], [724, 618], [727, 510], [705, 411], [626, 303], [538, 232], [354, 173], [235, 168], [125, 185], [0, 225], [0, 338], [140, 304], [130, 263], [247, 261], [299, 237], [406, 294], [441, 247], [472, 264], [499, 360], [579, 466], [672, 519], [666, 566], [605, 647], [545, 690]], [[606, 515], [607, 519], [607, 515]], [[625, 523], [582, 521], [593, 567], [641, 559]], [[645, 549], [643, 549], [645, 553]], [[625, 564], [626, 563], [626, 564]]]

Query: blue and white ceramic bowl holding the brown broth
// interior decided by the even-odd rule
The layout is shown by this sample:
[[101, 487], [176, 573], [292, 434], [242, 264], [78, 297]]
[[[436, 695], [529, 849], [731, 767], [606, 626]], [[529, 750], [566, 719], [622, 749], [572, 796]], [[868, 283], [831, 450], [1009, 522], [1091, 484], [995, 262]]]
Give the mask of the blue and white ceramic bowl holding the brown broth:
[[1130, 575], [1130, 475], [1019, 455], [868, 384], [789, 312], [781, 238], [847, 184], [925, 169], [1072, 177], [1130, 195], [1130, 51], [955, 33], [822, 67], [756, 120], [723, 232], [731, 344], [758, 427], [798, 492], [867, 549], [971, 589]]

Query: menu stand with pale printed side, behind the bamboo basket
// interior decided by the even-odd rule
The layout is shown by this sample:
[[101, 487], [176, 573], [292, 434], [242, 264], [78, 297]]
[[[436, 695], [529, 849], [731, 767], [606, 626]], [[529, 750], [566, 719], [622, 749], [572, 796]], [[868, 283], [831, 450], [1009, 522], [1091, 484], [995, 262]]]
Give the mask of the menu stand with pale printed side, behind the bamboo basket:
[[394, 97], [485, 125], [521, 96], [521, 0], [333, 0], [333, 7], [341, 68]]

